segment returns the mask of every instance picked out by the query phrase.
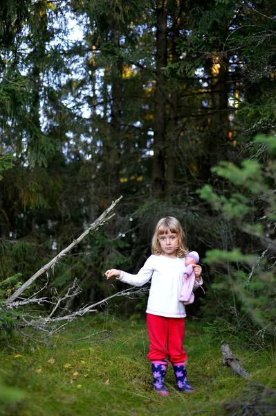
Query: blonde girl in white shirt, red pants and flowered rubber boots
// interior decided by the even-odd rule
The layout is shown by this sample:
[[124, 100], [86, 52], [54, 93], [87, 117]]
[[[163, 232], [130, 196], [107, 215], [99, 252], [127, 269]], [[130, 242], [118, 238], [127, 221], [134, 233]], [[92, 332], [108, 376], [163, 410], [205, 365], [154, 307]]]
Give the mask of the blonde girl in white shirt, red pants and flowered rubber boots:
[[[151, 244], [152, 255], [147, 259], [137, 275], [110, 269], [105, 272], [107, 279], [116, 279], [133, 286], [142, 286], [151, 279], [149, 300], [147, 302], [147, 330], [149, 332], [149, 354], [154, 390], [160, 395], [169, 395], [164, 379], [168, 356], [174, 367], [178, 391], [194, 392], [187, 381], [185, 361], [187, 354], [183, 349], [185, 335], [185, 306], [179, 301], [183, 286], [187, 254], [185, 234], [176, 218], [161, 218], [154, 232]], [[203, 282], [200, 277], [201, 266], [193, 265], [196, 276], [195, 288]]]

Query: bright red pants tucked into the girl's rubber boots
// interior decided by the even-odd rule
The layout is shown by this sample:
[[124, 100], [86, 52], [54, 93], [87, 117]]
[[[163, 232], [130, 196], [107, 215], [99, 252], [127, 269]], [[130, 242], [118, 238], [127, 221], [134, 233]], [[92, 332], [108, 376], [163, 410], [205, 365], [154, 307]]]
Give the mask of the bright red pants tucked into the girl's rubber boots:
[[167, 318], [147, 313], [149, 332], [149, 354], [151, 361], [164, 361], [168, 356], [172, 364], [183, 363], [187, 354], [183, 349], [185, 335], [184, 318]]

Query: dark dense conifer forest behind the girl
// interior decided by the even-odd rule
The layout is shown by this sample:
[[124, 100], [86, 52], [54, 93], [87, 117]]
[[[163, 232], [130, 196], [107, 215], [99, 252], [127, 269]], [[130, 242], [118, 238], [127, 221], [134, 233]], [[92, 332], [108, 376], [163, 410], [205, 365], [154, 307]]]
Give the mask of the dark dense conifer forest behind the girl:
[[[122, 195], [46, 295], [74, 277], [72, 309], [120, 290], [104, 271], [137, 272], [176, 216], [205, 259], [188, 314], [275, 335], [275, 16], [270, 0], [1, 1], [2, 299]], [[145, 299], [116, 306], [138, 318]]]

